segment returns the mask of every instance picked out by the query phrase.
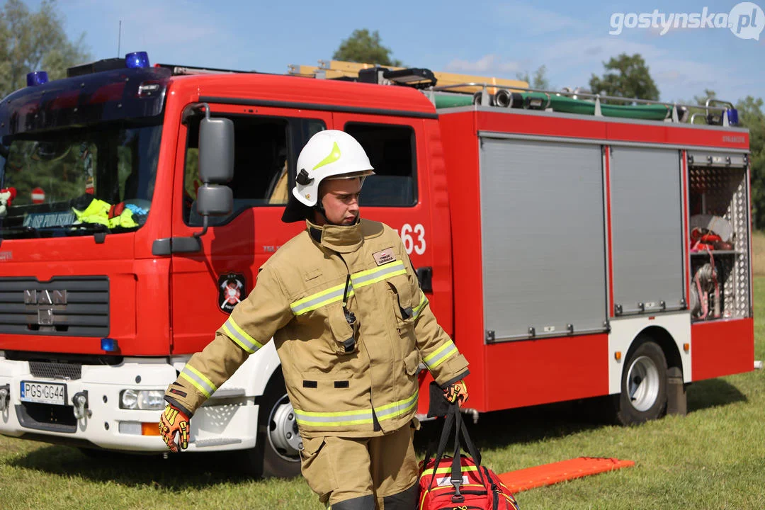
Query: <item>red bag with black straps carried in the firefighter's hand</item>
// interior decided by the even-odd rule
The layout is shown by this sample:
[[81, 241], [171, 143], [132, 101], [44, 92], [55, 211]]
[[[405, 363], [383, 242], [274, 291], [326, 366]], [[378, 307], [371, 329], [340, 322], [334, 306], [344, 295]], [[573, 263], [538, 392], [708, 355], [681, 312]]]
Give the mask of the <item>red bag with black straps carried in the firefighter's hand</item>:
[[[452, 430], [454, 455], [444, 456]], [[499, 476], [481, 466], [480, 453], [467, 434], [457, 404], [449, 406], [435, 458], [428, 452], [420, 463], [419, 484], [419, 510], [518, 510], [516, 499]]]

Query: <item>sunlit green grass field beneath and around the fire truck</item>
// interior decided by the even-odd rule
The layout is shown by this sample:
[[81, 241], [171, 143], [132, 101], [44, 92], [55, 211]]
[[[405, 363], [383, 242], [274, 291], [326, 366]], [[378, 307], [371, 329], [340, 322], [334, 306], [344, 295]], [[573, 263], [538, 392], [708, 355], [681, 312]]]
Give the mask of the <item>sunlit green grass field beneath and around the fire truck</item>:
[[[765, 274], [765, 236], [755, 246]], [[759, 243], [759, 244], [758, 244]], [[758, 273], [760, 274], [760, 273]], [[765, 359], [765, 277], [754, 282], [755, 358]], [[640, 427], [581, 419], [571, 404], [483, 414], [471, 428], [484, 462], [503, 473], [577, 456], [636, 466], [520, 492], [522, 508], [765, 508], [765, 372], [695, 383], [688, 416]], [[417, 443], [435, 436], [425, 424]], [[315, 508], [302, 479], [251, 480], [235, 456], [109, 456], [0, 437], [0, 508]]]

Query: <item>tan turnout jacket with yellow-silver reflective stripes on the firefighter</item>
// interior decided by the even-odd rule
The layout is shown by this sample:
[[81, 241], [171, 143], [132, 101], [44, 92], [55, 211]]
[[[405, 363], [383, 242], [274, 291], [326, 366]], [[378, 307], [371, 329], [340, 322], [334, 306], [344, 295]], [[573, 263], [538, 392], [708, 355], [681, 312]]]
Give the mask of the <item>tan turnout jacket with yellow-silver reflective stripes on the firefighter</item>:
[[364, 219], [307, 224], [262, 266], [256, 287], [191, 357], [167, 401], [193, 414], [272, 337], [303, 437], [369, 437], [409, 423], [421, 361], [441, 385], [467, 375], [396, 232]]

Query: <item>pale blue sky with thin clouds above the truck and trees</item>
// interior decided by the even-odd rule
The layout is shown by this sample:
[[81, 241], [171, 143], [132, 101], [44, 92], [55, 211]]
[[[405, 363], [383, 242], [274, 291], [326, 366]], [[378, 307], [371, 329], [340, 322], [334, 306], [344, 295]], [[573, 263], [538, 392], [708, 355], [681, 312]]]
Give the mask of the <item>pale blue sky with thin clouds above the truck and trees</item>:
[[[765, 31], [760, 34], [765, 0], [758, 2], [657, 2], [671, 4], [659, 7], [643, 0], [58, 0], [57, 5], [70, 39], [82, 36], [94, 60], [116, 57], [118, 50], [123, 57], [145, 50], [151, 63], [285, 73], [288, 64], [330, 60], [353, 30], [368, 28], [379, 31], [392, 57], [411, 67], [514, 79], [544, 65], [553, 89], [586, 88], [593, 73], [604, 73], [610, 57], [638, 53], [662, 100], [690, 100], [712, 89], [720, 99], [736, 102], [765, 98]], [[31, 9], [39, 5], [26, 3]], [[670, 22], [672, 28], [662, 34], [662, 15], [665, 21], [684, 16], [674, 16], [678, 28]], [[710, 28], [715, 20], [734, 26]], [[759, 40], [743, 38], [754, 36]]]

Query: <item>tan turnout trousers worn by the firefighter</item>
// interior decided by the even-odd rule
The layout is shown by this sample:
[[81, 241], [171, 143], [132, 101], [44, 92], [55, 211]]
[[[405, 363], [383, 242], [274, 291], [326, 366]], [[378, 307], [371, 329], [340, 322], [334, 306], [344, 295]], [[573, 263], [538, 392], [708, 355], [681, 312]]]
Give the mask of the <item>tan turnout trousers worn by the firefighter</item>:
[[419, 495], [415, 427], [413, 420], [382, 436], [304, 439], [303, 476], [332, 510], [413, 510]]

